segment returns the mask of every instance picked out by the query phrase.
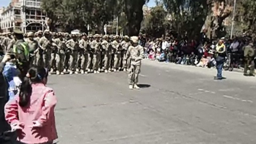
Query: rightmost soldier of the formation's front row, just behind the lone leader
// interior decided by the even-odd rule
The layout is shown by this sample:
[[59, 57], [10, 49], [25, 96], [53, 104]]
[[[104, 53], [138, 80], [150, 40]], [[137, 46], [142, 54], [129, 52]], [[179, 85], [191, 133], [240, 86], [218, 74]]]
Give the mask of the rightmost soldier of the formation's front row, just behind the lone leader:
[[126, 53], [128, 50], [128, 47], [131, 45], [130, 41], [129, 41], [129, 37], [128, 35], [125, 35], [124, 37], [124, 41], [121, 42], [121, 46], [122, 46], [122, 66], [124, 71], [127, 71], [127, 57], [126, 57]]

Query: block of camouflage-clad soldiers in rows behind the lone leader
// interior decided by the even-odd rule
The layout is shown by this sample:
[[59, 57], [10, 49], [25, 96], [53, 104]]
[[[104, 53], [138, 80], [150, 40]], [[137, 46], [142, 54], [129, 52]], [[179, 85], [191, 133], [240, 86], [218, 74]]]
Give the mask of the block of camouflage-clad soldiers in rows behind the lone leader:
[[[43, 66], [50, 73], [100, 73], [128, 71], [128, 36], [88, 35], [50, 32], [49, 30], [24, 34], [28, 45], [29, 65]], [[11, 33], [1, 34], [4, 50], [13, 50], [16, 38]]]

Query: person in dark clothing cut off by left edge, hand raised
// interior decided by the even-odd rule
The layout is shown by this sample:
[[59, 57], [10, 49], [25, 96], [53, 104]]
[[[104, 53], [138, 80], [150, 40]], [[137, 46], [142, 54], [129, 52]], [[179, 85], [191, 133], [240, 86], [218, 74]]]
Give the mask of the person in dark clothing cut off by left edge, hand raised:
[[8, 54], [3, 54], [3, 49], [0, 50], [0, 144], [9, 144], [10, 137], [4, 132], [10, 130], [10, 126], [4, 118], [4, 105], [7, 103], [8, 96], [8, 83], [3, 75], [3, 68], [5, 63], [10, 59]]

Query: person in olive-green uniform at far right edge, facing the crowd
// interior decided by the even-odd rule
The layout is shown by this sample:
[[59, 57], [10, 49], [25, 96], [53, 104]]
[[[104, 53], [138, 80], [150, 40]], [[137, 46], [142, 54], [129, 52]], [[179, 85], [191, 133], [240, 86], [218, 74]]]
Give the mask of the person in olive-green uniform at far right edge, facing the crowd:
[[[244, 76], [254, 76], [254, 63], [255, 58], [255, 48], [253, 46], [253, 41], [250, 40], [250, 43], [244, 47]], [[247, 71], [250, 68], [250, 73], [248, 75]]]

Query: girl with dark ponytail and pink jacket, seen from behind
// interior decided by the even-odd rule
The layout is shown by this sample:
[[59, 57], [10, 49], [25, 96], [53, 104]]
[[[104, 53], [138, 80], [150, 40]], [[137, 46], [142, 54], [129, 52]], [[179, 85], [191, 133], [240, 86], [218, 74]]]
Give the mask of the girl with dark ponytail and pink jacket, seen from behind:
[[5, 119], [22, 144], [52, 144], [57, 139], [54, 116], [57, 99], [54, 91], [46, 87], [47, 76], [47, 69], [29, 69], [19, 95], [5, 105]]

